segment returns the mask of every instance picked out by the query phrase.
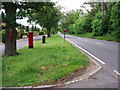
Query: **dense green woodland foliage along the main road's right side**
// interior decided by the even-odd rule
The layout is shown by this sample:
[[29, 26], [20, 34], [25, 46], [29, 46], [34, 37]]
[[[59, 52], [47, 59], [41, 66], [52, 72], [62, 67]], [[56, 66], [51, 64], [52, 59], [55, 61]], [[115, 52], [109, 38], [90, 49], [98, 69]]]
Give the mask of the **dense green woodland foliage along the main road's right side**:
[[[91, 2], [91, 11], [86, 14], [76, 11], [68, 12], [59, 26], [60, 31], [66, 27], [70, 34], [92, 33], [95, 37], [114, 37], [110, 39], [120, 42], [120, 1], [119, 2]], [[102, 7], [103, 4], [103, 7]], [[106, 38], [109, 40], [109, 38]]]

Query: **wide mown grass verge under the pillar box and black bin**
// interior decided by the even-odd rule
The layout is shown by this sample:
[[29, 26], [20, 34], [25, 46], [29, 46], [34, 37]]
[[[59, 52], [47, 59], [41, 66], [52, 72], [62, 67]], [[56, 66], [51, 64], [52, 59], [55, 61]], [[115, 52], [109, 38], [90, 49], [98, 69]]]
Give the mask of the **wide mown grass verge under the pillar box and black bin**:
[[58, 35], [34, 47], [18, 50], [18, 56], [3, 57], [3, 86], [50, 84], [89, 64], [87, 56]]

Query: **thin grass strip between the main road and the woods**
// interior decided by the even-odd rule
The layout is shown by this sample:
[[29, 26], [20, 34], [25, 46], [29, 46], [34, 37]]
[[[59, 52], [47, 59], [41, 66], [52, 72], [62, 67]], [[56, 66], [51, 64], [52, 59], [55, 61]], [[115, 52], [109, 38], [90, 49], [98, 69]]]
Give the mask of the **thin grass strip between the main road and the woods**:
[[86, 34], [71, 34], [75, 36], [80, 37], [86, 37], [86, 38], [93, 38], [93, 39], [99, 39], [99, 40], [106, 40], [106, 41], [113, 41], [113, 42], [120, 42], [117, 38], [111, 36], [111, 35], [104, 35], [104, 36], [94, 36], [93, 33], [86, 33]]

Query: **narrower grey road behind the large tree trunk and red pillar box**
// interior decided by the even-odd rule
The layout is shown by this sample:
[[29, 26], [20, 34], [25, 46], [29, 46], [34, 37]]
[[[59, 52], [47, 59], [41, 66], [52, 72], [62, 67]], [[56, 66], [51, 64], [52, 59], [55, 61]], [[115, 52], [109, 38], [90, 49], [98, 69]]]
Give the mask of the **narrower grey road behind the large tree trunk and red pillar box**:
[[[34, 42], [39, 41], [39, 40], [41, 40], [41, 36], [36, 36], [33, 39], [34, 39], [33, 40]], [[21, 49], [25, 46], [28, 46], [28, 39], [27, 38], [17, 40], [17, 50]], [[4, 55], [4, 50], [5, 50], [4, 44], [0, 44], [0, 56]]]

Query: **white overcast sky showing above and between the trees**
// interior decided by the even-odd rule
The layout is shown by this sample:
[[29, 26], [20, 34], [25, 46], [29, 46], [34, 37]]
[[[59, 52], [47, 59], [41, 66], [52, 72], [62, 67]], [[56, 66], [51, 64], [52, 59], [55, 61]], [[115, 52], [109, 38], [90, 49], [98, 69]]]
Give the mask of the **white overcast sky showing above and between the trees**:
[[[51, 1], [57, 2], [57, 6], [60, 5], [63, 7], [61, 11], [66, 12], [70, 10], [80, 9], [80, 6], [88, 0], [51, 0]], [[17, 20], [17, 23], [20, 23], [25, 26], [29, 25], [30, 27], [32, 27], [32, 25], [27, 23], [27, 18], [22, 20]], [[37, 27], [40, 28], [39, 25], [37, 25]]]

